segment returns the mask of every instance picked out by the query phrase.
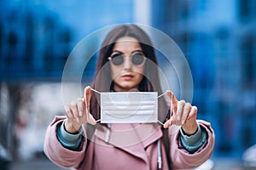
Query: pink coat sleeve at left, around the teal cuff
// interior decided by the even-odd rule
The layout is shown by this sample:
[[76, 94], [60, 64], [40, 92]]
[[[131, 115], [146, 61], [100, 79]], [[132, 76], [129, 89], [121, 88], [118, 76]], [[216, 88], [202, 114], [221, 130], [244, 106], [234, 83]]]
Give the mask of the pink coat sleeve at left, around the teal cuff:
[[44, 139], [44, 153], [49, 160], [60, 167], [79, 167], [80, 162], [84, 159], [87, 144], [86, 133], [84, 133], [81, 150], [73, 151], [64, 148], [56, 137], [56, 127], [66, 118], [66, 116], [55, 116], [53, 122], [47, 127]]

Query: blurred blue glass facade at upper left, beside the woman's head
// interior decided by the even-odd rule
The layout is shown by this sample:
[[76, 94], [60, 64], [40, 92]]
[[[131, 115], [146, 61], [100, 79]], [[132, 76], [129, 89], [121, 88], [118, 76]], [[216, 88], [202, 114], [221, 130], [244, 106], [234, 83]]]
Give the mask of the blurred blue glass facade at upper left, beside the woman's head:
[[76, 43], [103, 26], [132, 21], [130, 1], [113, 1], [114, 5], [107, 1], [101, 5], [91, 1], [61, 1], [61, 5], [52, 1], [2, 3], [3, 81], [61, 81], [67, 57]]

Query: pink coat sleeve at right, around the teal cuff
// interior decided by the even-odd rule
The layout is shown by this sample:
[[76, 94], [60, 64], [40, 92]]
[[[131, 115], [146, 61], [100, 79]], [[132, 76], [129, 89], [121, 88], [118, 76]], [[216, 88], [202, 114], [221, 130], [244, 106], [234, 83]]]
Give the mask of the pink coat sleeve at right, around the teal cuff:
[[211, 156], [215, 144], [215, 135], [211, 124], [205, 121], [198, 121], [201, 128], [207, 132], [207, 141], [195, 153], [189, 154], [189, 151], [183, 148], [180, 141], [180, 131], [173, 133], [173, 129], [169, 129], [170, 137], [170, 156], [173, 169], [190, 169], [199, 167], [202, 163], [207, 161]]

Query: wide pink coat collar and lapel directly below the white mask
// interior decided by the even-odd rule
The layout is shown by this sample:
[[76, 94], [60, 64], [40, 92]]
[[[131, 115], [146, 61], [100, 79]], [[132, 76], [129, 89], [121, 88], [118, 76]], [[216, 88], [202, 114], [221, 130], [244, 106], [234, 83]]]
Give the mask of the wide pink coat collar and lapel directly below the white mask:
[[[96, 129], [96, 138], [105, 143], [105, 139], [108, 138], [108, 130], [108, 127], [103, 127], [103, 130]], [[157, 124], [112, 124], [108, 144], [148, 161], [145, 148], [161, 137], [162, 131]]]

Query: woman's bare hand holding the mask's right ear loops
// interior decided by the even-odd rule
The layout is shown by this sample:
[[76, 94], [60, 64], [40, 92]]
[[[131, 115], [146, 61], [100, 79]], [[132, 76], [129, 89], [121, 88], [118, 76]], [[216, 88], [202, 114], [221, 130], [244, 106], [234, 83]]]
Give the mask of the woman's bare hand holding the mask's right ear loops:
[[164, 127], [171, 127], [172, 125], [182, 126], [183, 132], [191, 135], [197, 131], [197, 107], [192, 106], [184, 100], [178, 101], [171, 91], [167, 90], [166, 94], [172, 100], [172, 117], [166, 121]]

